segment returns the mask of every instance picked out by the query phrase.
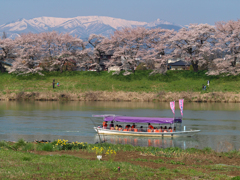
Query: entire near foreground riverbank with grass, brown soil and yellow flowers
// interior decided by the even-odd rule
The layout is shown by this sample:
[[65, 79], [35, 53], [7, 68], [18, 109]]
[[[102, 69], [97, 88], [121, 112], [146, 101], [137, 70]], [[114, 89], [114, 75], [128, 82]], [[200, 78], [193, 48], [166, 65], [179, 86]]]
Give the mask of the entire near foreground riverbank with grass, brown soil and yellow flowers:
[[239, 151], [65, 144], [1, 141], [1, 179], [240, 179]]

